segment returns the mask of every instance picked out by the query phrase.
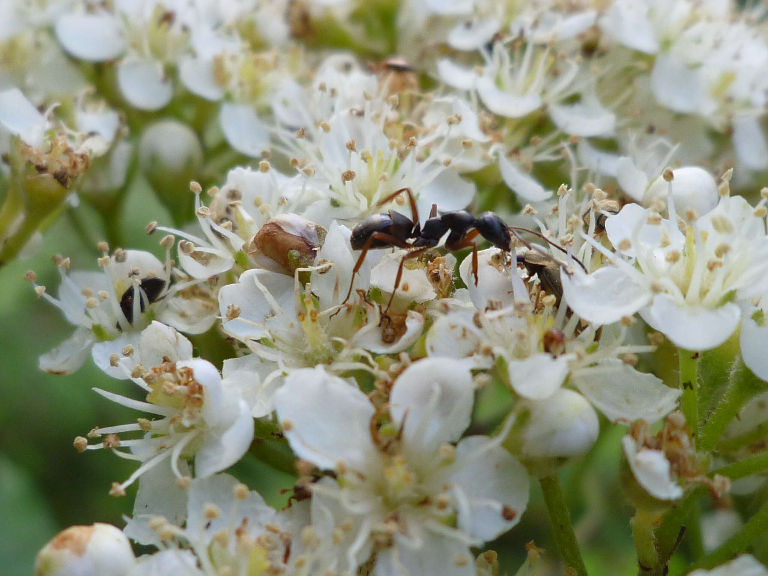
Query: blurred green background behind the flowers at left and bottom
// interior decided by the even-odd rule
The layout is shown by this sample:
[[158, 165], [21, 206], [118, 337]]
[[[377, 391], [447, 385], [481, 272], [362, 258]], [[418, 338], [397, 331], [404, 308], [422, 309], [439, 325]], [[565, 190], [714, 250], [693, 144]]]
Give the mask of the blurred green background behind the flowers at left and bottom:
[[[118, 215], [122, 247], [152, 250], [158, 237], [147, 237], [147, 220], [169, 223], [170, 215], [143, 181], [137, 180]], [[38, 300], [22, 280], [35, 270], [38, 282], [55, 294], [58, 270], [51, 256], [71, 257], [72, 269], [96, 269], [95, 251], [104, 238], [98, 214], [87, 205], [69, 209], [45, 233], [43, 246], [31, 259], [0, 269], [0, 576], [32, 573], [35, 554], [63, 528], [94, 521], [122, 527], [131, 513], [135, 485], [127, 497], [108, 495], [111, 482], [127, 478], [134, 463], [107, 451], [78, 453], [77, 435], [94, 426], [127, 423], [137, 413], [101, 398], [94, 386], [139, 398], [138, 389], [110, 379], [92, 362], [71, 376], [50, 376], [38, 369], [38, 356], [69, 336], [72, 327], [53, 306]], [[87, 224], [88, 223], [88, 224]], [[114, 236], [114, 234], [113, 234]], [[478, 419], [498, 412], [490, 391], [478, 402]], [[604, 425], [607, 423], [604, 422]], [[604, 430], [588, 458], [561, 473], [571, 502], [574, 524], [591, 574], [637, 574], [628, 518], [618, 478], [623, 427]], [[281, 506], [291, 478], [247, 457], [233, 472]], [[525, 559], [525, 544], [545, 548], [541, 574], [559, 574], [541, 492], [531, 482], [531, 504], [518, 527], [488, 548], [498, 552], [502, 568], [515, 574]]]

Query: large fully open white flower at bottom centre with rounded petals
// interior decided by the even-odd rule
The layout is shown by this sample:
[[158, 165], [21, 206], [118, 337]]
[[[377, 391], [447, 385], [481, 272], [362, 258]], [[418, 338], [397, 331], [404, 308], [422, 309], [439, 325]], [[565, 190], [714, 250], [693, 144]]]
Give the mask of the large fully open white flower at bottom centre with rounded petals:
[[422, 359], [392, 387], [391, 425], [372, 432], [376, 409], [358, 389], [322, 368], [288, 377], [275, 398], [286, 437], [300, 458], [336, 470], [335, 482], [312, 485], [313, 499], [333, 502], [335, 524], [352, 527], [336, 570], [356, 571], [378, 541], [377, 573], [474, 574], [468, 547], [517, 523], [528, 502], [525, 469], [500, 439], [452, 445], [473, 394], [464, 364]]

